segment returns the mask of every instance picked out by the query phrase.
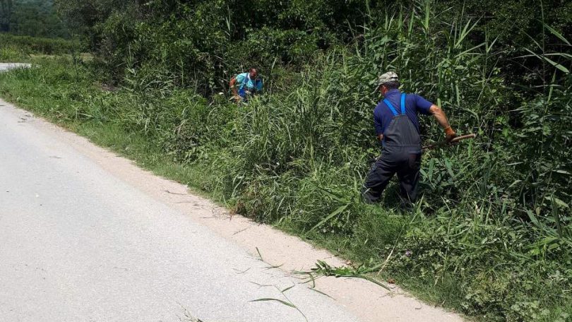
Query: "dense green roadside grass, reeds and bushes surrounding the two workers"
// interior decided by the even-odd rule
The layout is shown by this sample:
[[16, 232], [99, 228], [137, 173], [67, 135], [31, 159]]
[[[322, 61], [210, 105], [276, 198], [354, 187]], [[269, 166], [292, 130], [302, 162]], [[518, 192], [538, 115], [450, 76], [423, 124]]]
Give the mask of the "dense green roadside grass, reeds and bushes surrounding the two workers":
[[[0, 95], [149, 167], [172, 165], [237, 212], [432, 302], [487, 321], [571, 319], [567, 2], [523, 12], [527, 1], [506, 1], [494, 13], [471, 1], [57, 2], [98, 59], [0, 74]], [[230, 103], [225, 82], [253, 64], [266, 94]], [[395, 186], [381, 207], [360, 202], [379, 153], [373, 83], [386, 70], [460, 133], [479, 133], [425, 152], [412, 213], [395, 209]], [[431, 119], [422, 132], [443, 136]]]

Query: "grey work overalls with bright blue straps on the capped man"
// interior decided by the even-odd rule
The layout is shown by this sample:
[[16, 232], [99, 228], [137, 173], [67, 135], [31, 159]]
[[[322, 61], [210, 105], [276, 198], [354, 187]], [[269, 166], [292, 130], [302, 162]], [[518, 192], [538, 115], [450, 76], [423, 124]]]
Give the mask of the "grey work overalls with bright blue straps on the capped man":
[[381, 156], [371, 166], [364, 184], [364, 199], [368, 203], [381, 201], [381, 193], [398, 174], [400, 197], [404, 203], [417, 198], [417, 183], [421, 167], [421, 138], [412, 121], [405, 114], [405, 93], [401, 94], [401, 113], [389, 100], [383, 103], [391, 109], [393, 119], [383, 133]]

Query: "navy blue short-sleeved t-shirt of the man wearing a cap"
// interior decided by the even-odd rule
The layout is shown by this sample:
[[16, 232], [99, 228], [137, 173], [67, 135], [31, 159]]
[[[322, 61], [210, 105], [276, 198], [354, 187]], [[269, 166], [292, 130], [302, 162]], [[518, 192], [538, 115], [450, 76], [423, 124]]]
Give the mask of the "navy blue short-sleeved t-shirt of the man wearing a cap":
[[[386, 93], [385, 98], [391, 102], [397, 112], [400, 113], [401, 92], [399, 90], [390, 90]], [[419, 119], [417, 119], [417, 113], [430, 115], [431, 112], [429, 112], [429, 108], [431, 105], [433, 105], [433, 103], [425, 100], [420, 95], [407, 94], [405, 96], [405, 114], [412, 121], [413, 125], [415, 125], [417, 132], [419, 132]], [[374, 109], [374, 126], [378, 136], [386, 131], [391, 119], [393, 119], [391, 109], [389, 109], [383, 100], [381, 100]]]

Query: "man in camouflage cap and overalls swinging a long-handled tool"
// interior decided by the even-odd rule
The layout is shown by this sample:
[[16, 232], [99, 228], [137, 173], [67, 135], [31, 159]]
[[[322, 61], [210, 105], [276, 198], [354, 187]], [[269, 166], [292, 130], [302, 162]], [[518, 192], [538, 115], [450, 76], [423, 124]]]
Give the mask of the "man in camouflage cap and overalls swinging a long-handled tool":
[[369, 170], [364, 184], [368, 203], [381, 201], [381, 193], [397, 173], [400, 198], [405, 205], [415, 202], [421, 167], [421, 137], [417, 114], [433, 115], [445, 131], [446, 141], [456, 134], [437, 105], [417, 94], [401, 93], [398, 76], [389, 71], [379, 76], [378, 87], [383, 100], [374, 109], [374, 126], [381, 141], [381, 157]]

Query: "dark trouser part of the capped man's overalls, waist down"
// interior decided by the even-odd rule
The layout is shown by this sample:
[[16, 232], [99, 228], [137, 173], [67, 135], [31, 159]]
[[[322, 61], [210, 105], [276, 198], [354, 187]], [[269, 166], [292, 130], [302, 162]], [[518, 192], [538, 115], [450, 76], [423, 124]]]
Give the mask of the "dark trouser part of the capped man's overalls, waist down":
[[421, 151], [410, 148], [383, 149], [381, 157], [371, 166], [364, 184], [364, 199], [368, 203], [381, 201], [393, 174], [397, 173], [400, 184], [400, 198], [403, 203], [417, 199], [417, 184], [421, 167]]

